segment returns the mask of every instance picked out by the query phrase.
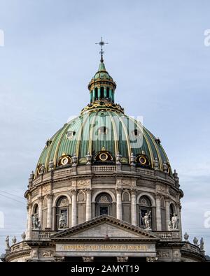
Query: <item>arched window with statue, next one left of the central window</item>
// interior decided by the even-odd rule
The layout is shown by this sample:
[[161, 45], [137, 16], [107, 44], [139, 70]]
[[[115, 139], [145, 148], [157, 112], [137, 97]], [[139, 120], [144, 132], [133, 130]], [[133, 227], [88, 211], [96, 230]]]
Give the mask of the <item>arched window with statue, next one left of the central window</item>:
[[69, 225], [69, 201], [66, 196], [58, 199], [56, 204], [56, 228], [62, 230]]

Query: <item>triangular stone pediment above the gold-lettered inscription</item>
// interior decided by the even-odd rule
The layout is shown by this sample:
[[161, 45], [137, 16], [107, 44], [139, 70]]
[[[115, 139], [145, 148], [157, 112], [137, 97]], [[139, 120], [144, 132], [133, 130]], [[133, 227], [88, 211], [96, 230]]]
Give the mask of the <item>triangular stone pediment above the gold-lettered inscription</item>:
[[60, 231], [50, 237], [52, 240], [159, 240], [158, 235], [125, 221], [102, 215], [83, 224]]

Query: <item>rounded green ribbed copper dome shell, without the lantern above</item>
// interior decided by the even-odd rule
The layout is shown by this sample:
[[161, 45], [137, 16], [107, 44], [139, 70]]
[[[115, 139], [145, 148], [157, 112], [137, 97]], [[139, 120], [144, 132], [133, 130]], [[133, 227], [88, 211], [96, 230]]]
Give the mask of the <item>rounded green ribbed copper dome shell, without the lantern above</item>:
[[169, 165], [160, 140], [139, 122], [122, 112], [94, 110], [64, 124], [47, 141], [38, 160], [38, 167], [44, 165], [45, 171], [48, 171], [51, 161], [54, 168], [59, 168], [62, 156], [76, 156], [78, 164], [86, 164], [87, 154], [92, 155], [92, 164], [99, 164], [96, 157], [103, 151], [112, 157], [109, 164], [116, 163], [117, 154], [120, 154], [122, 164], [130, 164], [133, 154], [135, 157], [146, 157], [146, 168], [153, 169], [155, 160], [162, 171], [164, 163]]

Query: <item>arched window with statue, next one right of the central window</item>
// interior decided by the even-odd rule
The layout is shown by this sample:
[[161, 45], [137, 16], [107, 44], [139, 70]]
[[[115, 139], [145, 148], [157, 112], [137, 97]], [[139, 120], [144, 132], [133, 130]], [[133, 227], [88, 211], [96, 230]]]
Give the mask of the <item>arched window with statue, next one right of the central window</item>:
[[146, 228], [144, 217], [147, 214], [149, 216], [150, 228], [152, 228], [152, 204], [147, 196], [141, 196], [139, 199], [139, 226], [141, 228]]

